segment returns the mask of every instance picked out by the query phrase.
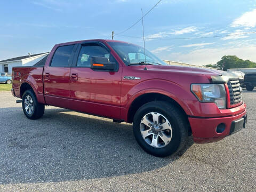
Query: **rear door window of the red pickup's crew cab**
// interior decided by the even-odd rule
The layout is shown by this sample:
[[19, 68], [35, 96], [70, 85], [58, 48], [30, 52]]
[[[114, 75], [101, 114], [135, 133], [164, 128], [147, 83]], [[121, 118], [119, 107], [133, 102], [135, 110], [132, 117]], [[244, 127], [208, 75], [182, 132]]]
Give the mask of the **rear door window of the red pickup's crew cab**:
[[59, 46], [52, 57], [51, 66], [68, 67], [71, 62], [70, 59], [72, 58], [71, 55], [74, 46], [75, 45]]

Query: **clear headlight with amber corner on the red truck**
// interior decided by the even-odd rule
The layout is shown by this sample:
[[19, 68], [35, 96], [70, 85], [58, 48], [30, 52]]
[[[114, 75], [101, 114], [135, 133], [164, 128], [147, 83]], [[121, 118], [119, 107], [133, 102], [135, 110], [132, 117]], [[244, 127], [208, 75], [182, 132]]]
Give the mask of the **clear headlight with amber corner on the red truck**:
[[226, 91], [223, 84], [191, 84], [191, 91], [200, 102], [213, 102], [219, 109], [226, 108]]

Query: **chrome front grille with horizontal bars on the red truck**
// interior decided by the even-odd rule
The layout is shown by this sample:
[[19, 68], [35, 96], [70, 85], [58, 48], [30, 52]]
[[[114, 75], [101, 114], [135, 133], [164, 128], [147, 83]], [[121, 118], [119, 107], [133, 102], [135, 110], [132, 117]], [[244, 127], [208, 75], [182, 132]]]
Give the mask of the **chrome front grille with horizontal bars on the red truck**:
[[236, 105], [237, 103], [242, 101], [242, 93], [241, 88], [239, 87], [239, 80], [230, 80], [228, 82], [228, 89], [230, 95], [230, 106]]

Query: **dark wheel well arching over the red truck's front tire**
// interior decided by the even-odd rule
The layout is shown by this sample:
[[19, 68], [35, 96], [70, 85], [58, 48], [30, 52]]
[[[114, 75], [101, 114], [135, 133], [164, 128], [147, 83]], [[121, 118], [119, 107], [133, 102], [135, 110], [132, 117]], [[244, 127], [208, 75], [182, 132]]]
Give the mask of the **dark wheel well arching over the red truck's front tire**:
[[128, 111], [128, 123], [132, 123], [133, 122], [133, 118], [134, 115], [136, 113], [136, 111], [144, 104], [150, 102], [150, 101], [166, 101], [169, 103], [172, 103], [172, 105], [174, 105], [175, 107], [177, 107], [178, 109], [180, 109], [183, 117], [185, 118], [185, 121], [188, 125], [188, 131], [189, 131], [189, 135], [191, 134], [191, 127], [188, 121], [188, 116], [185, 113], [185, 111], [183, 110], [183, 108], [179, 105], [179, 103], [177, 103], [175, 100], [173, 100], [172, 98], [163, 95], [163, 94], [159, 94], [159, 93], [146, 93], [143, 95], [140, 95], [138, 98], [136, 98]]

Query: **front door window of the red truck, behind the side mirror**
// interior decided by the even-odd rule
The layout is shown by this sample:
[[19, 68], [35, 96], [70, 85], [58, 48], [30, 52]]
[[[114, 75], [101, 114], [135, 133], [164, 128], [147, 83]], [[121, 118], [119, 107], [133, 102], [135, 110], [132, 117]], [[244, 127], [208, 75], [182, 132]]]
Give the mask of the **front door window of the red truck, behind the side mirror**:
[[111, 62], [116, 62], [114, 57], [102, 46], [99, 45], [87, 45], [82, 46], [78, 55], [77, 67], [91, 67], [92, 57], [106, 57]]

